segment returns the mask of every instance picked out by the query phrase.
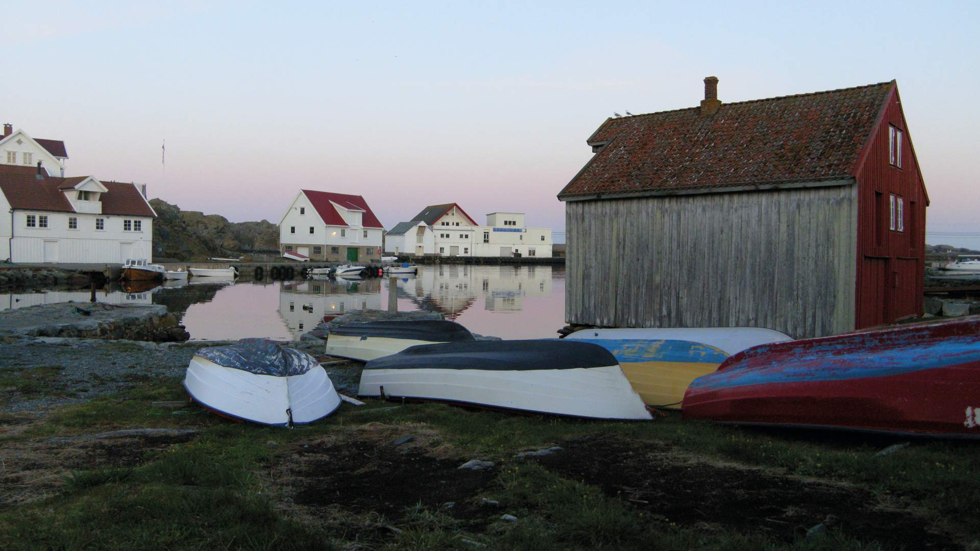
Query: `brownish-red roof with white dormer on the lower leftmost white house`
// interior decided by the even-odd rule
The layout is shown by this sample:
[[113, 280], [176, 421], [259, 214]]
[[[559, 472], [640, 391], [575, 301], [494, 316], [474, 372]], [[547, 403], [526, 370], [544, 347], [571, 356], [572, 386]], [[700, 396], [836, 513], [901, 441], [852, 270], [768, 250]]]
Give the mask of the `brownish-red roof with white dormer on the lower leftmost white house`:
[[[0, 166], [4, 167], [4, 166]], [[20, 170], [0, 170], [0, 191], [10, 206], [19, 210], [54, 211], [73, 213], [72, 203], [63, 189], [71, 188], [87, 176], [69, 178], [47, 176], [37, 179], [33, 172], [25, 174]], [[131, 183], [103, 181], [109, 190], [99, 194], [104, 215], [154, 216], [150, 205], [143, 199], [136, 186]]]

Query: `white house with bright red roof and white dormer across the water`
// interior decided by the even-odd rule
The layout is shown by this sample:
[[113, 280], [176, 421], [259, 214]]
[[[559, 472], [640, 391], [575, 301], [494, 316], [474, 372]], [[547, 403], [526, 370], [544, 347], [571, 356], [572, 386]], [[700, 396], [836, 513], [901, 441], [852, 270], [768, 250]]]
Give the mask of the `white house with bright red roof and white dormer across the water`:
[[279, 220], [279, 252], [318, 261], [379, 260], [383, 233], [361, 195], [301, 189]]

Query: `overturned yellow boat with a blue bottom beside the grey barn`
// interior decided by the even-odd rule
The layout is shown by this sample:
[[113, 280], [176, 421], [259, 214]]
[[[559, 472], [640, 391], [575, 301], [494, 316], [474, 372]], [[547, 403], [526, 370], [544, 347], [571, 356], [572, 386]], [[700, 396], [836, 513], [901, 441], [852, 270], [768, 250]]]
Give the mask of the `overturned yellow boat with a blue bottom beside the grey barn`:
[[591, 342], [609, 350], [643, 401], [658, 408], [680, 409], [691, 381], [713, 373], [728, 358], [719, 348], [689, 340], [578, 338], [564, 342]]

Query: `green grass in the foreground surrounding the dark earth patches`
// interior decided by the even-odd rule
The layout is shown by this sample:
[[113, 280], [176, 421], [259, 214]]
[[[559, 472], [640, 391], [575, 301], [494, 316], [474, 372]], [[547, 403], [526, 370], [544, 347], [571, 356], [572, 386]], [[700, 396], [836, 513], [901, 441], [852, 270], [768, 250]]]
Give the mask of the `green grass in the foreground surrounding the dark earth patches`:
[[[49, 388], [46, 377], [57, 374], [56, 368], [38, 374], [39, 392]], [[760, 533], [675, 526], [644, 517], [630, 503], [595, 486], [513, 458], [522, 449], [613, 433], [662, 442], [703, 461], [856, 484], [886, 503], [906, 508], [914, 503], [914, 509], [938, 526], [980, 549], [980, 526], [963, 514], [980, 504], [980, 454], [971, 443], [915, 440], [897, 453], [876, 457], [876, 451], [896, 440], [714, 426], [681, 422], [674, 414], [653, 423], [596, 423], [369, 401], [362, 408], [344, 406], [317, 424], [283, 430], [228, 422], [196, 407], [152, 406], [184, 399], [176, 379], [141, 380], [125, 392], [56, 409], [8, 437], [42, 441], [125, 427], [198, 430], [191, 441], [148, 453], [137, 466], [73, 472], [50, 497], [0, 510], [0, 548], [331, 549], [362, 541], [390, 549], [475, 549], [467, 543], [472, 541], [490, 549], [534, 551], [879, 549], [836, 530], [784, 543]], [[319, 513], [325, 518], [309, 518], [280, 511], [260, 476], [264, 466], [283, 460], [276, 459], [277, 450], [359, 426], [404, 426], [406, 431], [421, 426], [438, 433], [433, 447], [492, 458], [503, 468], [487, 495], [506, 504], [506, 512], [518, 520], [500, 520], [501, 512], [478, 522], [458, 520], [419, 504], [396, 523], [401, 531], [379, 531], [386, 521], [369, 514], [356, 518], [342, 510], [325, 511]], [[270, 440], [279, 445], [270, 446]]]

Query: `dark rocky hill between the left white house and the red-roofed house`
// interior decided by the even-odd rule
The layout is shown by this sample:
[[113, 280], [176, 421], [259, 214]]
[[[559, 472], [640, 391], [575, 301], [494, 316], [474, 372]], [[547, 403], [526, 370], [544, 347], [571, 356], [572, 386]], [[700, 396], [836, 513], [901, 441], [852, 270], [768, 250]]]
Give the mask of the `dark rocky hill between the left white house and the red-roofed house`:
[[239, 257], [279, 250], [279, 228], [268, 221], [228, 222], [221, 215], [181, 211], [162, 199], [151, 199], [157, 212], [153, 223], [154, 256], [175, 260], [204, 260], [211, 256]]

